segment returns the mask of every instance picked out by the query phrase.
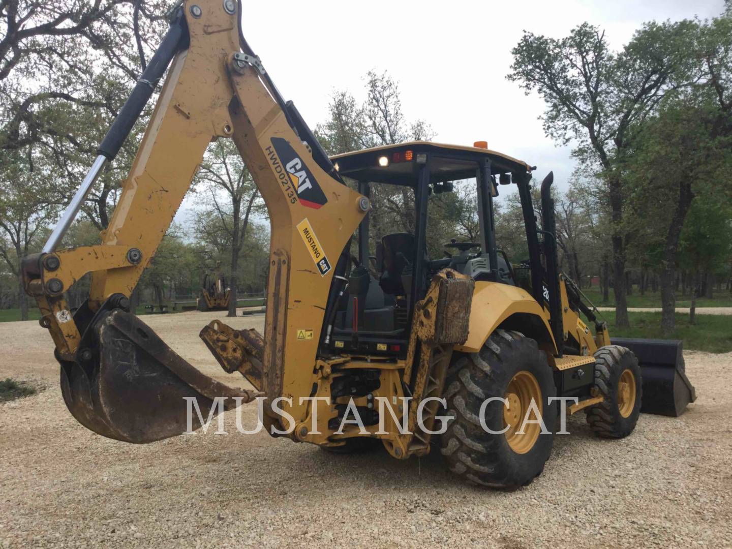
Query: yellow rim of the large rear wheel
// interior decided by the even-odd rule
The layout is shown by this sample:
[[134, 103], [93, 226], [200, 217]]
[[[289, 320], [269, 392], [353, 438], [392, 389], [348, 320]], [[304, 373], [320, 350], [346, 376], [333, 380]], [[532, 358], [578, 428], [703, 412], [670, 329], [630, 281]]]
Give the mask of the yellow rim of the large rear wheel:
[[[531, 400], [536, 403], [536, 408], [531, 411], [527, 421], [542, 419], [544, 407], [542, 403], [542, 389], [534, 374], [522, 370], [509, 381], [506, 395], [508, 406], [504, 405], [504, 428], [508, 427], [505, 435], [511, 449], [517, 454], [526, 454], [539, 438], [541, 425], [538, 423], [526, 423], [523, 433], [518, 433], [531, 406]], [[539, 410], [539, 417], [536, 417], [536, 410]]]

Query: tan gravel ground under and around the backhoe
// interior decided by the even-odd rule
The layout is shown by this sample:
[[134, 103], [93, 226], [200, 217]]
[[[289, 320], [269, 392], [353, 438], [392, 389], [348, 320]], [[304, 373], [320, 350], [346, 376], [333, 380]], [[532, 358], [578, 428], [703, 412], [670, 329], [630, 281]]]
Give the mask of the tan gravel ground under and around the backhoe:
[[[143, 318], [224, 380], [198, 340], [217, 315]], [[48, 386], [0, 405], [0, 546], [731, 546], [732, 354], [684, 353], [698, 400], [681, 418], [643, 414], [604, 441], [578, 414], [544, 474], [501, 493], [456, 482], [439, 452], [338, 456], [265, 433], [108, 440], [68, 413], [52, 348], [35, 322], [0, 324], [0, 378]], [[253, 425], [254, 406], [243, 415]]]

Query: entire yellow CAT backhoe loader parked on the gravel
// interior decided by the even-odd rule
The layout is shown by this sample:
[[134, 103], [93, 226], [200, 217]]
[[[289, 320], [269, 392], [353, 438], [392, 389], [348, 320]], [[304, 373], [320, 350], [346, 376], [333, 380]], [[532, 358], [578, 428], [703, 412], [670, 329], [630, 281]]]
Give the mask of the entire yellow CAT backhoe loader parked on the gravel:
[[[56, 345], [64, 400], [82, 425], [152, 442], [187, 430], [187, 397], [206, 417], [222, 401], [228, 409], [261, 394], [275, 436], [335, 452], [376, 443], [397, 459], [438, 445], [455, 474], [510, 489], [544, 468], [561, 423], [557, 397], [610, 438], [630, 434], [641, 407], [678, 415], [694, 400], [679, 342], [611, 341], [559, 272], [551, 173], [539, 227], [534, 168], [485, 143], [415, 141], [330, 159], [247, 45], [242, 15], [233, 0], [173, 9], [81, 188], [42, 253], [24, 261], [26, 290]], [[102, 243], [56, 250], [165, 70]], [[264, 335], [214, 321], [201, 337], [253, 390], [203, 375], [129, 310], [215, 139], [234, 140], [269, 210], [267, 309]], [[449, 242], [448, 257], [430, 258], [428, 197], [464, 179], [475, 181], [479, 242]], [[523, 205], [530, 257], [520, 269], [496, 246], [493, 195], [501, 184], [515, 184]], [[414, 233], [384, 236], [372, 260], [373, 185], [413, 193]], [[89, 272], [89, 299], [71, 313], [64, 292]]]

